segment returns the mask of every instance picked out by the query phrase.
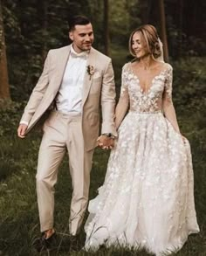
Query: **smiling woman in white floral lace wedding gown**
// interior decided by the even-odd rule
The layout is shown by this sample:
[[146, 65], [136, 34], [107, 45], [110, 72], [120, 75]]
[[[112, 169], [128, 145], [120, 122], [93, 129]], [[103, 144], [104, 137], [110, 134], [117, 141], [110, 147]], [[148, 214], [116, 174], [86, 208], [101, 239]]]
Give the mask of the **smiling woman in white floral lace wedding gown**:
[[172, 66], [157, 60], [155, 28], [141, 26], [129, 45], [135, 59], [122, 70], [118, 140], [105, 182], [89, 203], [85, 249], [104, 244], [169, 254], [199, 232], [189, 142], [175, 117]]

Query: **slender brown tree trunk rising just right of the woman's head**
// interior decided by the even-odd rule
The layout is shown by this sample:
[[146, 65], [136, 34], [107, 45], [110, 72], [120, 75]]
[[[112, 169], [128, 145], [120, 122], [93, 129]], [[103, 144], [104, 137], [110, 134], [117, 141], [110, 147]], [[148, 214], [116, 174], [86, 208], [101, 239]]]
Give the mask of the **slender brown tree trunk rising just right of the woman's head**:
[[164, 0], [159, 0], [160, 18], [161, 18], [161, 40], [163, 44], [164, 60], [168, 62], [168, 39], [166, 33]]

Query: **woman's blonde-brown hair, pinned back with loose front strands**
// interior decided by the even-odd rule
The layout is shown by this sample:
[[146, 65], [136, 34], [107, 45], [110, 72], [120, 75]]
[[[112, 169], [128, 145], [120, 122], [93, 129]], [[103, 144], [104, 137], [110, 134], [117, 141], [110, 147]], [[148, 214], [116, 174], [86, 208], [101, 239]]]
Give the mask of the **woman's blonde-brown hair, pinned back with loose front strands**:
[[136, 32], [140, 32], [141, 33], [141, 37], [144, 40], [144, 43], [148, 49], [148, 52], [150, 52], [151, 54], [153, 54], [154, 59], [157, 59], [158, 57], [161, 57], [161, 41], [160, 38], [157, 34], [156, 29], [154, 28], [153, 25], [151, 24], [144, 24], [141, 27], [135, 29], [129, 38], [129, 52], [136, 57], [136, 54], [132, 48], [133, 45], [133, 36], [134, 33]]

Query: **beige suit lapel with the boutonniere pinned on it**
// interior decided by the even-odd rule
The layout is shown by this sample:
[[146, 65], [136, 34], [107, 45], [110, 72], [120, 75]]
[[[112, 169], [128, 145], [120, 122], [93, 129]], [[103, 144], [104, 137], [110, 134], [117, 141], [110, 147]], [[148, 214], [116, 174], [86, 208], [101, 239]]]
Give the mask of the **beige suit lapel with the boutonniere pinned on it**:
[[86, 74], [85, 74], [85, 78], [84, 78], [83, 93], [82, 93], [82, 106], [84, 106], [84, 104], [86, 102], [86, 98], [88, 96], [90, 87], [93, 82], [93, 75], [90, 75], [87, 71], [88, 66], [93, 66], [93, 68], [95, 70], [95, 52], [94, 52], [93, 48], [91, 48], [89, 55], [88, 55], [87, 62], [86, 62]]

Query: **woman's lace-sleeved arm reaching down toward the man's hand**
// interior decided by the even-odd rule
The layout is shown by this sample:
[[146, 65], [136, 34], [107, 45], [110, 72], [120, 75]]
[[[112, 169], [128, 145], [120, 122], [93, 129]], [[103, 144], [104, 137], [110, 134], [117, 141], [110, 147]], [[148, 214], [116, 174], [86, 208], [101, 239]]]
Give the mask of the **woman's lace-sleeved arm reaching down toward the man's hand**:
[[121, 89], [120, 89], [120, 99], [118, 101], [117, 107], [115, 109], [115, 126], [119, 128], [121, 121], [124, 119], [127, 113], [129, 96], [128, 96], [128, 85], [127, 85], [127, 66], [123, 66], [121, 73]]

